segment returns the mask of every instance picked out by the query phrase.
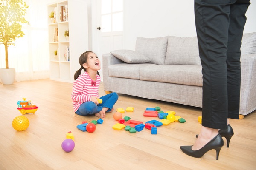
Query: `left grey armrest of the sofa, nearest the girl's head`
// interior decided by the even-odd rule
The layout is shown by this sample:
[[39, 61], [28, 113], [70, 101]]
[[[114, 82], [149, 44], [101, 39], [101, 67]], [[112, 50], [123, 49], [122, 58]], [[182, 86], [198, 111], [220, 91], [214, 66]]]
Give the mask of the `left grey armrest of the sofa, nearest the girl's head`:
[[109, 74], [108, 74], [108, 66], [114, 64], [125, 63], [122, 60], [114, 57], [112, 54], [107, 53], [102, 55], [102, 71], [103, 71], [103, 85], [105, 91], [110, 91], [109, 88]]

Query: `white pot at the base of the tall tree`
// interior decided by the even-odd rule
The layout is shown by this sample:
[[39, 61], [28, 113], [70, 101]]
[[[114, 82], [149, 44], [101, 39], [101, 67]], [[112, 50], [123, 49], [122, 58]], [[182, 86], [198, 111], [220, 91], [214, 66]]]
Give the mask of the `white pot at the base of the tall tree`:
[[0, 68], [0, 79], [4, 85], [12, 85], [15, 80], [15, 68]]

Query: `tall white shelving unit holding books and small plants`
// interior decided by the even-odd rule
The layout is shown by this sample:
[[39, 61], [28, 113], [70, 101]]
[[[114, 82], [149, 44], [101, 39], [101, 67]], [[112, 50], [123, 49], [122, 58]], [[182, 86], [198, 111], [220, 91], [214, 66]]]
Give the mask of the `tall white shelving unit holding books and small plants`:
[[[61, 6], [68, 8], [68, 17], [60, 19]], [[50, 79], [73, 82], [74, 74], [80, 68], [79, 57], [88, 50], [88, 14], [87, 0], [65, 0], [48, 4], [48, 32]], [[49, 15], [55, 11], [55, 23]], [[54, 40], [55, 29], [58, 28], [58, 40]], [[69, 40], [66, 40], [64, 31], [69, 30]], [[69, 59], [65, 57], [65, 50], [69, 47]], [[55, 57], [54, 51], [58, 51]]]

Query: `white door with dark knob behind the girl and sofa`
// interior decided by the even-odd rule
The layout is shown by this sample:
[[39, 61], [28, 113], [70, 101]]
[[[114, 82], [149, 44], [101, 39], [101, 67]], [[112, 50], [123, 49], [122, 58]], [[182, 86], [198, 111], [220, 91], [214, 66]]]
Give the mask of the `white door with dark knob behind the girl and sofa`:
[[[96, 8], [97, 55], [102, 61], [102, 54], [123, 49], [123, 0], [97, 0]], [[102, 69], [99, 73], [102, 77]]]

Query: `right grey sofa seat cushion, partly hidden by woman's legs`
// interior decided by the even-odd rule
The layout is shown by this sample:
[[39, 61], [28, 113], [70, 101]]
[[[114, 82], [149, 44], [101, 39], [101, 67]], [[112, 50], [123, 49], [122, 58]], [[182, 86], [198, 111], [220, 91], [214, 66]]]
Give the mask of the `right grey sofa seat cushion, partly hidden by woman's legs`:
[[203, 85], [200, 65], [148, 65], [140, 68], [140, 80], [183, 85]]

